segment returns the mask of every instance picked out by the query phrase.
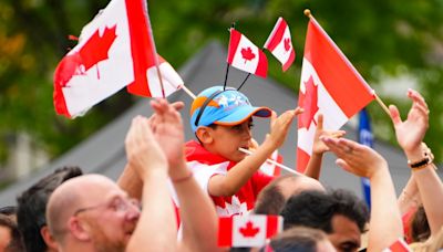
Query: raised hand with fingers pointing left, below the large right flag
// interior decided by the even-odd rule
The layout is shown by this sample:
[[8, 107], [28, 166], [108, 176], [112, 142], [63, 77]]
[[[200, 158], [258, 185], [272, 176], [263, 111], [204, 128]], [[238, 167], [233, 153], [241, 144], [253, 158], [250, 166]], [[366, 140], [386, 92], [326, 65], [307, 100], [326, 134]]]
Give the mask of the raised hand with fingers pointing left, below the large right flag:
[[337, 165], [359, 177], [371, 179], [379, 170], [388, 169], [387, 160], [375, 150], [344, 138], [320, 138], [338, 157]]

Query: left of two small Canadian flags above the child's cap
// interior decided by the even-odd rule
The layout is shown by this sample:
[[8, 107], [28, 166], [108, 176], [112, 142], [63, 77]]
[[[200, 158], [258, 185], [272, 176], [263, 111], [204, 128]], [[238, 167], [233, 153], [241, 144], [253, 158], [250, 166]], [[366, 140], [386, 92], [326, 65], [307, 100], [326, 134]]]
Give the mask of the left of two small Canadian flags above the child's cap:
[[234, 28], [230, 29], [227, 62], [239, 70], [261, 77], [266, 77], [268, 73], [266, 54]]

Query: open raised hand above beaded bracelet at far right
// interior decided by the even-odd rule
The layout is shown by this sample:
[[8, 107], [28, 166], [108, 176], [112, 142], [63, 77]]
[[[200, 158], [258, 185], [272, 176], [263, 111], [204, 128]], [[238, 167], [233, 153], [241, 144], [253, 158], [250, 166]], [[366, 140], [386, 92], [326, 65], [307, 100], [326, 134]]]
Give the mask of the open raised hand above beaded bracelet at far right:
[[413, 90], [408, 91], [408, 97], [412, 99], [412, 106], [404, 122], [400, 117], [399, 109], [394, 105], [389, 106], [396, 140], [406, 155], [421, 150], [420, 145], [429, 127], [429, 108], [424, 98]]

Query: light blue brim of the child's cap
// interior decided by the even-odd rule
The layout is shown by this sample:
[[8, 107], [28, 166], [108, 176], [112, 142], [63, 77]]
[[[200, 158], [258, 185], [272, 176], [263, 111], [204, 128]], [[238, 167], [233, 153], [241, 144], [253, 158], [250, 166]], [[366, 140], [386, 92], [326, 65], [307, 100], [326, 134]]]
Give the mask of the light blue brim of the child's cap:
[[237, 108], [234, 113], [225, 116], [222, 119], [214, 122], [216, 125], [225, 125], [233, 126], [243, 124], [251, 116], [258, 117], [269, 117], [272, 114], [272, 111], [268, 107], [253, 107], [253, 106], [244, 106]]

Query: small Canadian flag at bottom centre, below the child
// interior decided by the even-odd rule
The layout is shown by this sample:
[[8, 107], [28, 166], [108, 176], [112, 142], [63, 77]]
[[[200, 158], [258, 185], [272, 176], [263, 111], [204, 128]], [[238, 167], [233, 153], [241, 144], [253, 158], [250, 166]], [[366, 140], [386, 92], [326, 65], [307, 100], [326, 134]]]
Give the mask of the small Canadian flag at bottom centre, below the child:
[[262, 246], [266, 240], [281, 232], [284, 219], [280, 216], [234, 216], [220, 217], [218, 223], [219, 246]]

